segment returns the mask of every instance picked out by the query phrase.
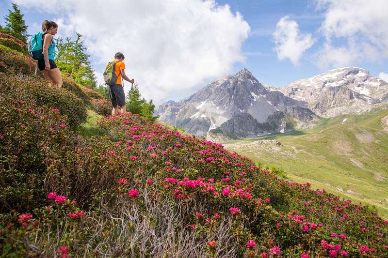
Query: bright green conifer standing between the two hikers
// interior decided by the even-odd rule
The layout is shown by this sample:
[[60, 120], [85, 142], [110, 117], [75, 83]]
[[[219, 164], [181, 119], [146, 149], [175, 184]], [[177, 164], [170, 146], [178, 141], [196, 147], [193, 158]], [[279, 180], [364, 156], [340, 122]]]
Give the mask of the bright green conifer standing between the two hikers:
[[81, 37], [82, 35], [77, 33], [77, 39], [74, 41], [69, 37], [65, 41], [62, 38], [57, 39], [56, 63], [59, 69], [70, 74], [75, 82], [93, 89], [97, 80], [89, 61], [90, 55], [86, 54], [87, 48]]

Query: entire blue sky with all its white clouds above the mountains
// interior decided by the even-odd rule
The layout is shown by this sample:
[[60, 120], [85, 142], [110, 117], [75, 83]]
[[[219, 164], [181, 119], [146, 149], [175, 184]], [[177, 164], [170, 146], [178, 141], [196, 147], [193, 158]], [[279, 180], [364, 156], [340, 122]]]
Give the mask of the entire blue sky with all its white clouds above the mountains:
[[[54, 38], [83, 34], [99, 81], [123, 52], [127, 75], [157, 105], [242, 68], [278, 87], [345, 66], [388, 80], [387, 0], [14, 2], [30, 34], [45, 19], [59, 25]], [[8, 9], [0, 0], [2, 26]]]

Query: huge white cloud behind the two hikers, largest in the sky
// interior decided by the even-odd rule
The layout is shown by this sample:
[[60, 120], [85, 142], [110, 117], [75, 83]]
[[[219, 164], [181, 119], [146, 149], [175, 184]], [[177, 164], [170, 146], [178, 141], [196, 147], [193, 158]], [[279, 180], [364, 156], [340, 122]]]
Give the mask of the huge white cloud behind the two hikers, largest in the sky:
[[[59, 34], [84, 35], [99, 81], [116, 52], [126, 74], [157, 105], [186, 97], [210, 78], [245, 60], [241, 46], [250, 27], [239, 13], [214, 0], [16, 0], [56, 15]], [[130, 89], [125, 82], [125, 91]]]

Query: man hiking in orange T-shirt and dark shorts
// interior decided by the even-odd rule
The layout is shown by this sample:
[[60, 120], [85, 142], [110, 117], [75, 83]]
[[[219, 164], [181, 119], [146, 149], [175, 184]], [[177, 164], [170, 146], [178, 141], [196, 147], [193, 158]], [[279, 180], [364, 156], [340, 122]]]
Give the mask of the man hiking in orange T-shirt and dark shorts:
[[130, 80], [128, 76], [125, 74], [125, 71], [124, 71], [125, 64], [123, 60], [124, 60], [123, 53], [118, 52], [114, 55], [114, 60], [112, 61], [112, 62], [116, 62], [114, 69], [115, 69], [115, 75], [117, 76], [116, 82], [112, 86], [110, 86], [111, 100], [112, 100], [112, 106], [113, 106], [112, 116], [118, 113], [118, 106], [120, 106], [121, 113], [127, 112], [126, 106], [125, 106], [124, 85], [121, 85], [121, 78], [123, 78], [126, 81], [129, 81], [130, 83], [135, 82], [135, 79], [132, 78]]

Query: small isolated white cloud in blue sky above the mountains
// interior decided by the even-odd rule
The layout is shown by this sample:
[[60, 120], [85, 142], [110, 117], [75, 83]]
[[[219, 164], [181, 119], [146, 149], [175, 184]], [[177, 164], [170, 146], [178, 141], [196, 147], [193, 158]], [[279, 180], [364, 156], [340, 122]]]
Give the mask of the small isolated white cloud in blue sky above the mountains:
[[301, 33], [299, 25], [296, 21], [290, 20], [288, 15], [278, 21], [273, 37], [277, 58], [279, 60], [289, 58], [294, 65], [298, 64], [303, 53], [315, 42], [311, 33]]

